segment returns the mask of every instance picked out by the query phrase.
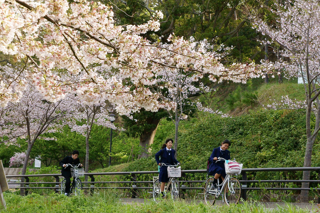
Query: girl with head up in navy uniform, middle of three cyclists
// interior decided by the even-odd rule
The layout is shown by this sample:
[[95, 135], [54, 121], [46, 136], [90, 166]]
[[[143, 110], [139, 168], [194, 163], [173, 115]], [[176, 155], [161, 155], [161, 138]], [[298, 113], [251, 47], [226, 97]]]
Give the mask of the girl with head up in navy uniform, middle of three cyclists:
[[[169, 165], [175, 165], [178, 163], [180, 164], [180, 162], [174, 158], [176, 151], [171, 148], [172, 144], [173, 140], [171, 138], [167, 139], [162, 145], [162, 149], [156, 153], [156, 161], [159, 166], [161, 166], [161, 163]], [[169, 181], [167, 169], [167, 166], [161, 166], [159, 172], [159, 181], [161, 182], [160, 190], [162, 196], [164, 196], [164, 186]]]

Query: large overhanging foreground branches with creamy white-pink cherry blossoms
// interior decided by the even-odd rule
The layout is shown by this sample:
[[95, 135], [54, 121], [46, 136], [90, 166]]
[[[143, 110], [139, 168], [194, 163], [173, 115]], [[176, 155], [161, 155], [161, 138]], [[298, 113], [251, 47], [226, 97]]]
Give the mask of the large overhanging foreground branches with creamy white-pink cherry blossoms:
[[[157, 111], [174, 107], [174, 103], [159, 101], [150, 89], [163, 67], [192, 72], [194, 78], [205, 74], [213, 81], [245, 83], [262, 74], [254, 63], [224, 67], [214, 54], [204, 48], [195, 50], [183, 38], [169, 36], [166, 46], [151, 44], [140, 35], [159, 29], [156, 17], [138, 26], [116, 26], [112, 8], [100, 2], [0, 0], [0, 4], [0, 51], [26, 61], [21, 73], [50, 102], [72, 92], [88, 104], [106, 99], [116, 104], [119, 114], [142, 107]], [[162, 18], [160, 12], [156, 14]], [[103, 75], [92, 64], [115, 69], [123, 78]], [[63, 71], [58, 74], [54, 69]], [[26, 83], [19, 76], [1, 81], [1, 106], [21, 98]], [[131, 83], [125, 84], [128, 80]]]

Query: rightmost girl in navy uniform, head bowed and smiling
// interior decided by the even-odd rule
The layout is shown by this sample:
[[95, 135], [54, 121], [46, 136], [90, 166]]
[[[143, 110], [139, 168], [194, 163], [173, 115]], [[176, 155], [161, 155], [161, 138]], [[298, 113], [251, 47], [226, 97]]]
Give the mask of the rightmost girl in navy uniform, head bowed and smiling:
[[218, 184], [218, 178], [221, 177], [222, 181], [226, 177], [226, 170], [224, 168], [224, 160], [218, 160], [218, 158], [224, 158], [226, 160], [230, 159], [230, 152], [228, 150], [229, 146], [231, 146], [231, 143], [229, 140], [224, 140], [221, 143], [221, 146], [214, 148], [212, 151], [212, 154], [209, 158], [209, 161], [212, 162], [212, 164], [209, 167], [209, 173], [213, 175], [213, 186], [216, 187]]

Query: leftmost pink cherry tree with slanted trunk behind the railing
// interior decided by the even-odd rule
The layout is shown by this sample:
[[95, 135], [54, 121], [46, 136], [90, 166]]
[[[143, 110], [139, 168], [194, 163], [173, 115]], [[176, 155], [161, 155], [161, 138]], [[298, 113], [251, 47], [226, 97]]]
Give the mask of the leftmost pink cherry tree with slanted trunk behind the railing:
[[[0, 67], [0, 75], [7, 79], [20, 72], [19, 68], [9, 66]], [[7, 83], [7, 82], [6, 82]], [[75, 111], [74, 105], [70, 104], [69, 97], [55, 103], [44, 100], [43, 96], [32, 84], [27, 84], [26, 89], [21, 92], [19, 102], [9, 102], [2, 109], [0, 132], [2, 137], [0, 142], [14, 143], [17, 138], [26, 139], [28, 148], [21, 174], [26, 174], [30, 152], [37, 139], [50, 140], [43, 136], [44, 133], [55, 132], [64, 123], [62, 119], [68, 119]], [[24, 178], [21, 178], [24, 182]], [[23, 194], [21, 189], [20, 193]]]

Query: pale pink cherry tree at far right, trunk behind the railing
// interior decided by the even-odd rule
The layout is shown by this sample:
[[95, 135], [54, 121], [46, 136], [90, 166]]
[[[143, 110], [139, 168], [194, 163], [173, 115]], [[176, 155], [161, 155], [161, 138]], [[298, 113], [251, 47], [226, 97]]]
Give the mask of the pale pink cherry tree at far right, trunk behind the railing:
[[[290, 62], [279, 64], [277, 68], [285, 68], [285, 78], [303, 77], [306, 94], [304, 102], [284, 97], [281, 103], [268, 107], [306, 109], [307, 142], [303, 166], [310, 167], [313, 145], [320, 130], [320, 3], [316, 0], [276, 1], [268, 9], [276, 14], [274, 22], [268, 24], [259, 18], [259, 14], [254, 14], [254, 27], [280, 45], [282, 56]], [[311, 121], [312, 114], [315, 122]], [[303, 171], [303, 180], [309, 179], [310, 171]], [[308, 187], [308, 182], [302, 183], [302, 188]], [[300, 201], [308, 202], [307, 190], [301, 191]]]

